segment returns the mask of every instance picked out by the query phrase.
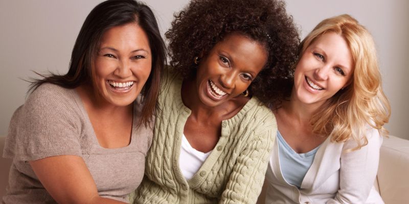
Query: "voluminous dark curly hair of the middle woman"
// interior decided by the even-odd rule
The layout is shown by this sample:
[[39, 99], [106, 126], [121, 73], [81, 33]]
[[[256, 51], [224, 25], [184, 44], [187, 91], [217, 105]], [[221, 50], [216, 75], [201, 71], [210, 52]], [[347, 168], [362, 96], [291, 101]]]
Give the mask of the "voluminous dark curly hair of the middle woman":
[[[300, 43], [292, 16], [280, 0], [192, 0], [174, 14], [169, 41], [170, 65], [184, 78], [197, 68], [193, 59], [207, 55], [225, 36], [236, 32], [265, 46], [268, 60], [249, 92], [269, 107], [281, 103], [283, 83], [292, 77]], [[285, 83], [286, 84], [286, 83]]]

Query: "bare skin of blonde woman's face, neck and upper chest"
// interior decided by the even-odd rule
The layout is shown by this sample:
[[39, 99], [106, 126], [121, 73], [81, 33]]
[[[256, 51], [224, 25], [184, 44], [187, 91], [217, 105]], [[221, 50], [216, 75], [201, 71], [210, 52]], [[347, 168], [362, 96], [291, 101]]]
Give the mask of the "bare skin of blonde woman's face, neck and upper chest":
[[[280, 133], [296, 152], [308, 152], [324, 142], [326, 137], [312, 132], [310, 119], [328, 98], [349, 85], [353, 70], [351, 51], [342, 36], [330, 32], [307, 47], [294, 72], [290, 100], [275, 111]], [[306, 78], [321, 90], [311, 87]]]

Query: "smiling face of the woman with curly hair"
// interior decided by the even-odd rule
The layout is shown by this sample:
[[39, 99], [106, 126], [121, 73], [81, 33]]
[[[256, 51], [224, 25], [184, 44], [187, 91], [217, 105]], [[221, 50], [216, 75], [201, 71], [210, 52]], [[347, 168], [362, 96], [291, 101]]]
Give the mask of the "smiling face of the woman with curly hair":
[[200, 60], [196, 85], [201, 103], [214, 107], [240, 95], [266, 61], [260, 43], [237, 33], [226, 36]]

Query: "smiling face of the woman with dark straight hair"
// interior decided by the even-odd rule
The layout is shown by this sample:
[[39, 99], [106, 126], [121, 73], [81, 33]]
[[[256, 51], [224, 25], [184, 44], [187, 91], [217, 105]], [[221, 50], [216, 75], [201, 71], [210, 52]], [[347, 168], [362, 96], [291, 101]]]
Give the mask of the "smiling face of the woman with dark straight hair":
[[151, 65], [148, 37], [138, 24], [109, 29], [95, 60], [99, 95], [114, 106], [131, 104], [145, 85]]

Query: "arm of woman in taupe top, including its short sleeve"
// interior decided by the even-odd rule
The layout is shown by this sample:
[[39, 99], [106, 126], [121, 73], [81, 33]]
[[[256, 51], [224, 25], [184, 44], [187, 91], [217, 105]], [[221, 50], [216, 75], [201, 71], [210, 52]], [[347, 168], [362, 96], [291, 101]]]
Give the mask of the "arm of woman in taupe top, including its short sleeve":
[[81, 158], [82, 124], [70, 98], [69, 91], [49, 84], [30, 94], [15, 124], [18, 154], [14, 158], [29, 161], [57, 202], [93, 203], [99, 199], [98, 191]]

